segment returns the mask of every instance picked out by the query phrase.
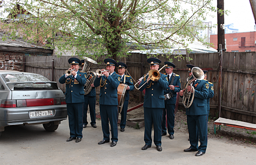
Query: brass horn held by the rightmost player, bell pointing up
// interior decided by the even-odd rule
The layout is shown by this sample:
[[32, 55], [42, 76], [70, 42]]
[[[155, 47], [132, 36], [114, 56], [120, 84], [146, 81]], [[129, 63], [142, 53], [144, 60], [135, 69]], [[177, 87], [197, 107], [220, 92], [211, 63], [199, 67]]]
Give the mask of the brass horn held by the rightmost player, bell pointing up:
[[[192, 75], [190, 75], [186, 79], [187, 83], [185, 85], [185, 88], [184, 88], [185, 91], [183, 93], [183, 98], [182, 98], [182, 103], [185, 108], [189, 108], [192, 105], [194, 100], [194, 87], [191, 85], [191, 83], [194, 82], [195, 80], [203, 80], [204, 78], [203, 70], [200, 69], [199, 67], [193, 67], [191, 72], [192, 72]], [[188, 85], [191, 86], [191, 91], [187, 91]]]

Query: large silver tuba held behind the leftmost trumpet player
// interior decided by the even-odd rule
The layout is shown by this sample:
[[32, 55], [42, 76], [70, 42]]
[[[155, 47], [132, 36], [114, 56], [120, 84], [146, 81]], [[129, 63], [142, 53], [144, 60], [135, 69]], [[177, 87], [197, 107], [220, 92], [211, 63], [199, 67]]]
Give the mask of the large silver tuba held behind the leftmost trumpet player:
[[93, 64], [98, 64], [98, 63], [91, 58], [88, 58], [88, 57], [83, 57], [83, 58], [84, 58], [84, 67], [82, 71], [87, 73], [86, 82], [84, 84], [84, 94], [87, 95], [92, 89], [91, 84], [94, 83], [97, 77], [96, 73], [93, 71], [89, 71], [89, 69]]

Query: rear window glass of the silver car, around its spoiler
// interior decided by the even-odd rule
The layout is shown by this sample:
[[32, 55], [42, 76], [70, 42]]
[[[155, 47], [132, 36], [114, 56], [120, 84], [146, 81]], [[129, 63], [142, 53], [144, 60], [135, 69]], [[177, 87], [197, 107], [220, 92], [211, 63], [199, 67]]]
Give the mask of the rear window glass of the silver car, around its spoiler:
[[[6, 82], [22, 82], [17, 83], [13, 90], [56, 90], [57, 83], [52, 83], [50, 80], [38, 74], [2, 74]], [[27, 82], [27, 83], [24, 83]], [[37, 82], [37, 83], [31, 83]], [[49, 82], [49, 83], [40, 83]]]

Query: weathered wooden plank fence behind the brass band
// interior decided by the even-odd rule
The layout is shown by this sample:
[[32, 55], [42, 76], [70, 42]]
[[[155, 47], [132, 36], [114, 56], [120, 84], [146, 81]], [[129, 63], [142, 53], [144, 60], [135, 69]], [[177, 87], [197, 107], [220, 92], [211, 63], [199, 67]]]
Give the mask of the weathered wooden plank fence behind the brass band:
[[[211, 116], [218, 117], [218, 81], [219, 81], [219, 53], [209, 54], [189, 54], [192, 58], [190, 64], [199, 66], [203, 70], [208, 70], [208, 81], [213, 83], [214, 97], [210, 99]], [[68, 59], [70, 56], [56, 57], [28, 57], [26, 56], [26, 72], [42, 74], [49, 80], [58, 82], [59, 78], [70, 68]], [[158, 57], [164, 65], [167, 61], [165, 55]], [[103, 64], [104, 56], [97, 59], [99, 65], [93, 65], [90, 70], [96, 71], [98, 68], [105, 68]], [[181, 77], [181, 88], [188, 77], [186, 60], [178, 60], [172, 56], [173, 63], [177, 66], [174, 73]], [[132, 53], [128, 58], [121, 58], [119, 62], [125, 62], [128, 66], [127, 70], [137, 81], [143, 74], [150, 70], [150, 66], [146, 62], [147, 57], [141, 53]], [[53, 62], [54, 61], [54, 62]], [[256, 123], [256, 53], [255, 52], [223, 52], [222, 65], [222, 93], [221, 93], [221, 117], [239, 120], [248, 123]], [[164, 69], [161, 71], [165, 73]], [[65, 85], [58, 82], [58, 86], [65, 91]], [[96, 88], [97, 98], [99, 88]], [[142, 93], [134, 90], [132, 97], [140, 99]], [[179, 100], [179, 108], [183, 108], [181, 99]]]

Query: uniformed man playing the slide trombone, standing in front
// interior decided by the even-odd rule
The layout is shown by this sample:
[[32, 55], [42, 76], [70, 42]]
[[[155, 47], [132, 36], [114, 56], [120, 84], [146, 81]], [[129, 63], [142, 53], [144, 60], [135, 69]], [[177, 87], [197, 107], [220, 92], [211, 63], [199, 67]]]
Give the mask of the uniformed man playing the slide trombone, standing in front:
[[[159, 69], [161, 60], [158, 58], [148, 58], [147, 62], [150, 65], [150, 70]], [[154, 143], [157, 146], [158, 151], [162, 151], [161, 147], [161, 123], [163, 117], [163, 108], [165, 107], [164, 90], [167, 90], [168, 81], [165, 74], [160, 74], [158, 81], [150, 80], [150, 76], [144, 76], [139, 87], [140, 91], [146, 89], [144, 96], [144, 121], [145, 121], [145, 132], [144, 141], [145, 145], [141, 148], [142, 150], [151, 147], [151, 130], [152, 124], [154, 123]]]

